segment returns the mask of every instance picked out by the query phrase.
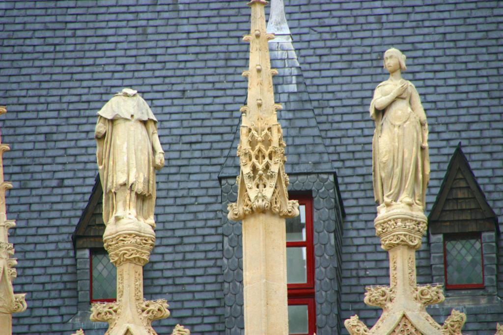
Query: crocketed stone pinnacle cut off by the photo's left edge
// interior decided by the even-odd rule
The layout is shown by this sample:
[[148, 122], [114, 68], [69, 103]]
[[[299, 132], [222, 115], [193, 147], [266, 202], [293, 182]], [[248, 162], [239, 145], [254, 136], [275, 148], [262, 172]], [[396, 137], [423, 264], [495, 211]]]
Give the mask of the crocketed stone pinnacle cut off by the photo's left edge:
[[[7, 113], [6, 107], [0, 106], [0, 115]], [[26, 310], [26, 293], [15, 294], [12, 282], [17, 273], [14, 266], [18, 264], [14, 255], [14, 245], [9, 243], [8, 231], [16, 226], [14, 220], [7, 219], [5, 193], [12, 188], [10, 182], [4, 181], [4, 152], [9, 151], [7, 144], [0, 140], [0, 335], [12, 334], [12, 313]]]

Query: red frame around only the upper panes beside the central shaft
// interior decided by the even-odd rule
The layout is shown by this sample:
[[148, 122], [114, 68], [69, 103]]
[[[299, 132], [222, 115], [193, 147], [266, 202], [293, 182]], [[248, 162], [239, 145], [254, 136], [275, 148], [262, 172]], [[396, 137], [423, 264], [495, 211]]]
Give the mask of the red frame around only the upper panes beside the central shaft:
[[306, 206], [306, 240], [287, 242], [286, 247], [306, 247], [306, 282], [288, 284], [288, 289], [314, 289], [313, 199], [309, 196], [299, 196], [295, 197], [295, 199], [299, 200], [299, 204]]

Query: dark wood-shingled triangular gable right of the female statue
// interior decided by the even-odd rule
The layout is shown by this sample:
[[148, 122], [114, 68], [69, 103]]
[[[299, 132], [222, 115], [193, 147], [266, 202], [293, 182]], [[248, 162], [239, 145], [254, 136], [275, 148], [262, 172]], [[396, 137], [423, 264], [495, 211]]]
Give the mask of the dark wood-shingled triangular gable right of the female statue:
[[473, 175], [461, 142], [449, 162], [428, 220], [434, 234], [498, 230], [497, 216]]

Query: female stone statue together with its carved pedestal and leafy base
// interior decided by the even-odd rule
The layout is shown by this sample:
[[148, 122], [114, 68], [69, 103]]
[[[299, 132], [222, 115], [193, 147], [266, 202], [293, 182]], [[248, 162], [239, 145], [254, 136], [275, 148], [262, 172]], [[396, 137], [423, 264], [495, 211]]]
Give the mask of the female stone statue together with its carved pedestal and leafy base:
[[372, 142], [378, 203], [374, 227], [381, 247], [389, 254], [390, 286], [366, 287], [365, 303], [383, 309], [374, 327], [367, 329], [356, 315], [345, 325], [351, 335], [460, 335], [465, 314], [453, 310], [441, 326], [426, 311], [426, 306], [444, 301], [442, 285], [417, 285], [415, 251], [428, 227], [424, 214], [430, 179], [428, 124], [415, 87], [401, 78], [405, 56], [389, 49], [384, 67], [390, 77], [377, 86], [370, 115], [376, 122]]

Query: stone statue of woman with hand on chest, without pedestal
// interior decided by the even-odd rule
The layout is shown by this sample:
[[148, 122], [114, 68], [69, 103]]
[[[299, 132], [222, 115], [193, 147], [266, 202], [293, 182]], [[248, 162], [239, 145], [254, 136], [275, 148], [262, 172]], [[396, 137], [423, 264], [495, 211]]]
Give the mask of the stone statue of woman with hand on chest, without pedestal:
[[[419, 94], [403, 80], [405, 55], [384, 53], [389, 78], [377, 85], [370, 103], [376, 129], [372, 140], [374, 195], [379, 205], [425, 205], [430, 180], [428, 124]], [[380, 206], [381, 207], [381, 206]]]

